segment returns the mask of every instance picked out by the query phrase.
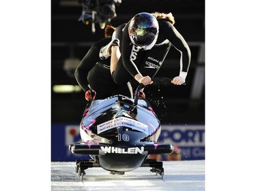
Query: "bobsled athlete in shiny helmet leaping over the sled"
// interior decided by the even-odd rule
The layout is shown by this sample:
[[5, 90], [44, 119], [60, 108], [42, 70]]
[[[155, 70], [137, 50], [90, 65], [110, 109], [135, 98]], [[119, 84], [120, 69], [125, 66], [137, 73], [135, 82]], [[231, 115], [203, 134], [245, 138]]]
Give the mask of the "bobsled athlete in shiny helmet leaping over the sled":
[[[143, 12], [117, 27], [111, 43], [100, 49], [100, 58], [111, 56], [113, 80], [126, 84], [132, 79], [132, 87], [137, 87], [138, 83], [152, 84], [151, 78], [160, 69], [172, 45], [181, 56], [179, 75], [173, 77], [171, 83], [184, 84], [190, 65], [190, 48], [173, 24], [171, 13]], [[112, 46], [117, 39], [119, 44]]]

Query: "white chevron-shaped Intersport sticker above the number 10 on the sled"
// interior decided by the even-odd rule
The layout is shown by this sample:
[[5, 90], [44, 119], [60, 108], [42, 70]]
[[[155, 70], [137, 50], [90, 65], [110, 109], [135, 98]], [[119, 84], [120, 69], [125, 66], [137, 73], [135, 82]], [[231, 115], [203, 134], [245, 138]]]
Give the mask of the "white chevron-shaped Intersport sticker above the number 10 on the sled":
[[109, 120], [102, 124], [97, 125], [97, 133], [100, 134], [104, 131], [108, 131], [109, 129], [115, 128], [117, 126], [127, 126], [137, 131], [141, 131], [143, 133], [148, 133], [148, 128], [146, 124], [142, 122], [138, 122], [137, 120], [132, 120], [130, 118], [115, 118], [113, 120]]

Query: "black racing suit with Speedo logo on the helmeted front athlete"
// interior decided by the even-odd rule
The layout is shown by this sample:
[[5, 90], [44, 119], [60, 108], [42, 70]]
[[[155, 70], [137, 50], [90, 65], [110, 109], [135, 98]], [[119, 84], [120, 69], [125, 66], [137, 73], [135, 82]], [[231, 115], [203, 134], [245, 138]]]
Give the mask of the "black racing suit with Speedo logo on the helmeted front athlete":
[[158, 19], [159, 34], [155, 46], [151, 50], [139, 50], [130, 41], [127, 24], [117, 27], [115, 37], [120, 40], [119, 58], [115, 72], [112, 73], [113, 80], [117, 84], [125, 84], [132, 80], [132, 87], [135, 88], [138, 82], [132, 79], [137, 73], [154, 77], [165, 60], [171, 45], [181, 53], [180, 71], [188, 72], [190, 65], [190, 49], [188, 44], [173, 27], [169, 20]]

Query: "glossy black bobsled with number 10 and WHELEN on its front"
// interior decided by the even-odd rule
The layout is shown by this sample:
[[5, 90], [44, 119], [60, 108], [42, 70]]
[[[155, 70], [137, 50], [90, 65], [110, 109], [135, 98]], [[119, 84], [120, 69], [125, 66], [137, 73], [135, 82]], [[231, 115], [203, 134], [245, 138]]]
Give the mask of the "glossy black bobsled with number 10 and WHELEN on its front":
[[139, 167], [152, 167], [150, 171], [164, 175], [162, 161], [147, 158], [151, 154], [171, 154], [173, 145], [157, 142], [160, 120], [147, 99], [139, 99], [142, 88], [140, 84], [134, 99], [117, 94], [87, 103], [80, 124], [83, 142], [69, 145], [73, 154], [91, 157], [76, 160], [76, 173], [81, 179], [85, 170], [93, 167], [117, 175]]

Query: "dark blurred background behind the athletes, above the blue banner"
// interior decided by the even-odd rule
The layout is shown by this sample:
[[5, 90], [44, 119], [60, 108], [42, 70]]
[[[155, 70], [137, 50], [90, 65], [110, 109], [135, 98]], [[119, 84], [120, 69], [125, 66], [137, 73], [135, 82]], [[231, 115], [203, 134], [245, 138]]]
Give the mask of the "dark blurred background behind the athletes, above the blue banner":
[[[104, 37], [96, 24], [79, 21], [82, 6], [74, 0], [51, 1], [51, 85], [77, 85], [63, 69], [67, 58], [82, 59], [90, 46]], [[147, 99], [163, 124], [205, 123], [205, 1], [204, 0], [123, 0], [115, 7], [117, 27], [139, 12], [172, 12], [175, 28], [188, 42], [192, 53], [186, 86], [157, 86], [145, 88]], [[180, 71], [180, 52], [171, 48], [156, 77], [175, 77]], [[51, 122], [79, 124], [86, 101], [84, 92], [51, 93]]]

